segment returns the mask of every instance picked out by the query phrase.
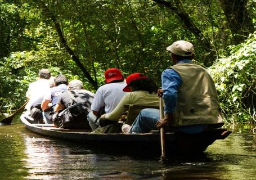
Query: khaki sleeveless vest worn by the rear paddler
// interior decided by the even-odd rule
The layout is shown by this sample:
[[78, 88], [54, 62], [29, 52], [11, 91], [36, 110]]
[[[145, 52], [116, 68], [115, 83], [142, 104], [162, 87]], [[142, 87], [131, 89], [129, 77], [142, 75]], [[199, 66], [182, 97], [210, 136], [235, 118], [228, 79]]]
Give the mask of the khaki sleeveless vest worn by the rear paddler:
[[170, 67], [182, 79], [172, 126], [223, 123], [212, 77], [199, 65], [179, 63]]

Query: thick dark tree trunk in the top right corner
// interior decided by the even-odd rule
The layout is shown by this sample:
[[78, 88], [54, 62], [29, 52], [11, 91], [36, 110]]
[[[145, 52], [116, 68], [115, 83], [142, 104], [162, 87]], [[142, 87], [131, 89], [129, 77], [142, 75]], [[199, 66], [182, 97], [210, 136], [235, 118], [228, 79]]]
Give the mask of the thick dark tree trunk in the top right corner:
[[232, 31], [235, 44], [244, 42], [250, 33], [254, 32], [253, 20], [246, 10], [247, 0], [219, 0], [227, 18], [227, 24]]

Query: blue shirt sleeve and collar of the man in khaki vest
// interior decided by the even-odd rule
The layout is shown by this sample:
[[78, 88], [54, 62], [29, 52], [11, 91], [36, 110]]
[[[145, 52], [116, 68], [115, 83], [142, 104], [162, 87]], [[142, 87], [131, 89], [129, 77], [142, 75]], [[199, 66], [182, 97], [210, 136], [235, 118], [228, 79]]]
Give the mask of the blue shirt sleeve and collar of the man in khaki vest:
[[[178, 63], [192, 63], [191, 60], [181, 60]], [[172, 113], [177, 105], [178, 88], [181, 87], [181, 76], [173, 69], [165, 69], [161, 75], [162, 88], [164, 91], [164, 111]]]

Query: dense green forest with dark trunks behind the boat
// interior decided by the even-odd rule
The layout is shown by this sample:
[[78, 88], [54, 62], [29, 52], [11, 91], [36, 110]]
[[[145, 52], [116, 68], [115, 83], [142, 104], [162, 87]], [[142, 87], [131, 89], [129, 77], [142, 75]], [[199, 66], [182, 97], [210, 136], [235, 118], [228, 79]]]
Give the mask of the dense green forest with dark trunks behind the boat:
[[227, 123], [256, 122], [254, 0], [0, 0], [0, 109], [16, 109], [39, 69], [80, 79], [145, 73], [159, 86], [165, 48], [195, 45], [213, 75]]

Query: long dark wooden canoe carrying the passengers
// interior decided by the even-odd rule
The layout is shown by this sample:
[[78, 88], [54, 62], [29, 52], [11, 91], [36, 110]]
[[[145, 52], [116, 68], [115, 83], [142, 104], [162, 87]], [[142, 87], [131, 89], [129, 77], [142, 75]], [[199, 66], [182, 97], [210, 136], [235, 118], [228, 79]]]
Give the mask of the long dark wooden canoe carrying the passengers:
[[[53, 124], [31, 124], [25, 115], [20, 116], [21, 121], [29, 131], [51, 138], [84, 143], [86, 145], [111, 145], [128, 149], [160, 151], [160, 134], [90, 134], [89, 130], [55, 128]], [[168, 152], [201, 153], [215, 140], [223, 140], [231, 131], [219, 128], [199, 134], [165, 133], [165, 146]], [[136, 148], [134, 148], [136, 147]]]

